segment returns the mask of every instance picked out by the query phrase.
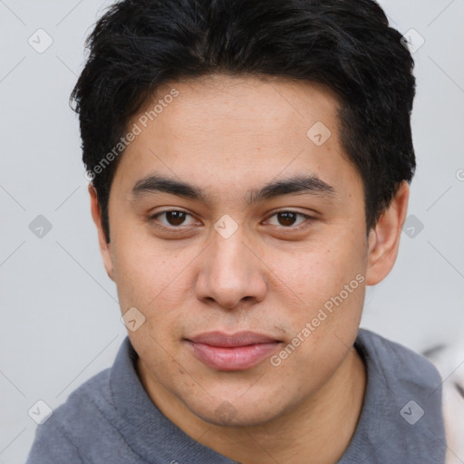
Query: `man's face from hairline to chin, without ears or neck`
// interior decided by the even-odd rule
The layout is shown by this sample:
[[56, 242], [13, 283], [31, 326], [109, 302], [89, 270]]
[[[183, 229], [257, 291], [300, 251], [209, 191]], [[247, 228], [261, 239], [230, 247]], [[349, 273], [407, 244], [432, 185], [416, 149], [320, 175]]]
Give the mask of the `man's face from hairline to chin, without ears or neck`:
[[[145, 317], [129, 332], [140, 375], [203, 420], [292, 411], [353, 346], [368, 247], [337, 108], [322, 86], [220, 75], [160, 88], [129, 125], [142, 131], [111, 184], [106, 266], [122, 313]], [[203, 196], [157, 189], [152, 176]], [[256, 195], [296, 177], [308, 189]]]

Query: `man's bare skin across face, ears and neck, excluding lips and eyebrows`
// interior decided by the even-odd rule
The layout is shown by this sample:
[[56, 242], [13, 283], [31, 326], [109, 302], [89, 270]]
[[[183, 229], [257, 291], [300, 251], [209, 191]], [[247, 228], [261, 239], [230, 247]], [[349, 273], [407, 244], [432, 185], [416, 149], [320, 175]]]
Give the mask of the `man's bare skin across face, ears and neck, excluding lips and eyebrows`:
[[[409, 187], [401, 184], [366, 234], [362, 179], [340, 143], [339, 102], [309, 82], [224, 74], [172, 82], [128, 127], [173, 87], [179, 96], [121, 157], [111, 184], [110, 243], [89, 188], [121, 312], [135, 306], [146, 319], [129, 332], [140, 381], [169, 420], [231, 459], [334, 463], [362, 410], [366, 374], [353, 343], [365, 286], [393, 266]], [[316, 121], [332, 132], [321, 146], [306, 136]], [[195, 184], [208, 201], [160, 192], [134, 197], [136, 182], [154, 173]], [[247, 205], [249, 189], [302, 173], [334, 194]], [[189, 214], [184, 222], [153, 218], [172, 210]], [[313, 219], [285, 222], [275, 214], [285, 211]], [[226, 214], [237, 223], [228, 238], [214, 228]], [[218, 371], [185, 341], [205, 331], [249, 330], [280, 340], [278, 354], [356, 275], [362, 284], [278, 367], [266, 359], [248, 370]]]

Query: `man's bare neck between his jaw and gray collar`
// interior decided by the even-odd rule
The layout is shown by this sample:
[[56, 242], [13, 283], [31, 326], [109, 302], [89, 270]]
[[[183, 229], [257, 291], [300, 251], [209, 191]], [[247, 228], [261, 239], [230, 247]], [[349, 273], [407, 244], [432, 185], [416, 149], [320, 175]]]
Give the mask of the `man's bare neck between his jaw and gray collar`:
[[140, 359], [139, 372], [151, 400], [179, 429], [242, 464], [336, 463], [353, 437], [366, 385], [364, 364], [353, 348], [324, 387], [292, 411], [258, 426], [221, 427], [199, 419], [151, 382]]

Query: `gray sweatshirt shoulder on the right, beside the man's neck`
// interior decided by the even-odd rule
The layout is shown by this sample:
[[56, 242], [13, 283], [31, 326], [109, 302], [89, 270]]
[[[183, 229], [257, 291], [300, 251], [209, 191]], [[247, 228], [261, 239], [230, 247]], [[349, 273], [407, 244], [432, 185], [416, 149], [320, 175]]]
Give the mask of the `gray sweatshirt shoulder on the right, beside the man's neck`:
[[367, 384], [361, 417], [341, 462], [443, 463], [437, 369], [419, 353], [365, 329], [354, 348], [366, 365]]

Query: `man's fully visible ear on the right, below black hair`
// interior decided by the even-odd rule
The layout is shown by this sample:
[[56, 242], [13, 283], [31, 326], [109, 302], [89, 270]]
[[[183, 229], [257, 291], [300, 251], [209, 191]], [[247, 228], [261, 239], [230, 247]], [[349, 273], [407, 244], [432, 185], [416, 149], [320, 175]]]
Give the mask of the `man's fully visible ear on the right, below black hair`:
[[390, 207], [382, 213], [375, 227], [369, 232], [366, 285], [381, 282], [390, 273], [396, 261], [409, 197], [410, 186], [403, 181], [391, 200]]

